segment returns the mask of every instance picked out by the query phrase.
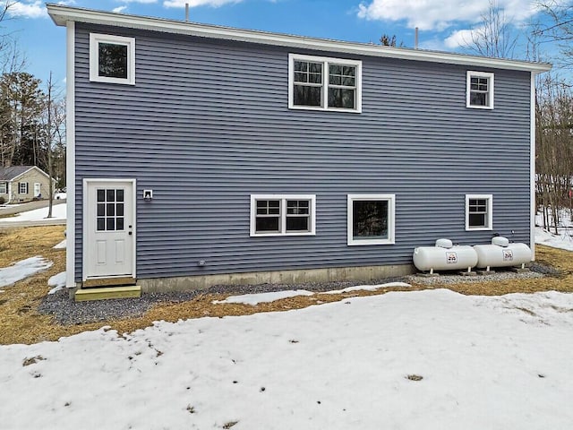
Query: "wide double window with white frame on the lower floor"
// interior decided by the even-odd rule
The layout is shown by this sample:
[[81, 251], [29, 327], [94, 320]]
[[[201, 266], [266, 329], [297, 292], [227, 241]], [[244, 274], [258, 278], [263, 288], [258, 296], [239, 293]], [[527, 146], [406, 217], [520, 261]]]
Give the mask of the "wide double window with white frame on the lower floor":
[[252, 194], [251, 236], [314, 235], [315, 210], [313, 194]]

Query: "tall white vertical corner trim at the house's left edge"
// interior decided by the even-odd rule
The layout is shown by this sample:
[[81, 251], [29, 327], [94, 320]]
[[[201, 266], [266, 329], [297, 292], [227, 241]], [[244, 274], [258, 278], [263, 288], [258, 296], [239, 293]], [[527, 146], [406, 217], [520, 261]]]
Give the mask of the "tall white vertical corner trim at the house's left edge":
[[75, 23], [66, 25], [65, 78], [65, 187], [67, 220], [65, 221], [65, 286], [75, 287]]

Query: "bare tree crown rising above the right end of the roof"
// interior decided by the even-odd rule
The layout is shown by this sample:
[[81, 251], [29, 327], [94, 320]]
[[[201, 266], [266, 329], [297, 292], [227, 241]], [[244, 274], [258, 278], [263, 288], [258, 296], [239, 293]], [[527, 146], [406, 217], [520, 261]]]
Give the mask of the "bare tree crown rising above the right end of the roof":
[[464, 41], [463, 47], [479, 56], [514, 58], [517, 34], [515, 26], [497, 1], [490, 0], [481, 22], [471, 31], [470, 40]]

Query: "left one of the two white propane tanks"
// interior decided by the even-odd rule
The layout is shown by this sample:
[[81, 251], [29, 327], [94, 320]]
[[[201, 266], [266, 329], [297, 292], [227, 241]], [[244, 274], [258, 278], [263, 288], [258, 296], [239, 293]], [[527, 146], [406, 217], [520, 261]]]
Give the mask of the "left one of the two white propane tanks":
[[470, 271], [477, 263], [477, 254], [471, 246], [452, 245], [449, 239], [438, 239], [436, 246], [415, 248], [413, 259], [418, 271]]

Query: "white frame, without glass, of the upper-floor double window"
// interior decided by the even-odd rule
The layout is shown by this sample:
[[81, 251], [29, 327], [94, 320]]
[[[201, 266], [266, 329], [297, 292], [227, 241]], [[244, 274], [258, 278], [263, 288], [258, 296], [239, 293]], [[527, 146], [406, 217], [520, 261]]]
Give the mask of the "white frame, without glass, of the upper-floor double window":
[[[295, 61], [309, 61], [322, 63], [322, 99], [321, 106], [295, 105]], [[350, 65], [356, 68], [355, 73], [355, 108], [329, 107], [329, 64]], [[338, 85], [332, 84], [338, 88]], [[288, 54], [288, 108], [298, 110], [319, 110], [329, 112], [348, 112], [359, 114], [362, 112], [362, 61], [329, 56], [305, 56]]]

